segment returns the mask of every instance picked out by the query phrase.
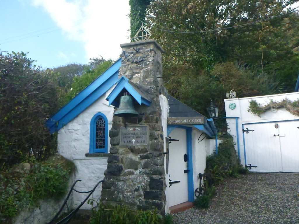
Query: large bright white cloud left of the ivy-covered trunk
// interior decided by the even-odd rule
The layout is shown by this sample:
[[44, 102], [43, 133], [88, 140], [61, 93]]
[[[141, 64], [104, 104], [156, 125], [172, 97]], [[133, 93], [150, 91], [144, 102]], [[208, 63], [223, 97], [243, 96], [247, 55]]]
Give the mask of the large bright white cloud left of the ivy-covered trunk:
[[62, 28], [66, 38], [83, 42], [86, 59], [117, 59], [128, 39], [128, 0], [32, 0]]

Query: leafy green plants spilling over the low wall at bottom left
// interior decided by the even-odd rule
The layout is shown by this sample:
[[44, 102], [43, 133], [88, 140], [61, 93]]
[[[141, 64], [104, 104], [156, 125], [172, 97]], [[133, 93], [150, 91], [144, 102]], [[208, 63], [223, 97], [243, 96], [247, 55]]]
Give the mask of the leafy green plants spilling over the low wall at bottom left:
[[59, 199], [65, 195], [73, 163], [54, 157], [46, 162], [51, 163], [35, 163], [30, 170], [12, 169], [0, 173], [0, 223], [9, 223], [10, 218], [38, 205], [39, 200]]

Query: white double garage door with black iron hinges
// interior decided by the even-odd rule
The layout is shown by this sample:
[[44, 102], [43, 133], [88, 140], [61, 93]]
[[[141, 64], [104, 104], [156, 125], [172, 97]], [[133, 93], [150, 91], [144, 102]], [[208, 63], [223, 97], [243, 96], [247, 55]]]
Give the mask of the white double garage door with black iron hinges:
[[244, 130], [246, 165], [257, 166], [250, 171], [299, 172], [299, 121], [249, 124]]

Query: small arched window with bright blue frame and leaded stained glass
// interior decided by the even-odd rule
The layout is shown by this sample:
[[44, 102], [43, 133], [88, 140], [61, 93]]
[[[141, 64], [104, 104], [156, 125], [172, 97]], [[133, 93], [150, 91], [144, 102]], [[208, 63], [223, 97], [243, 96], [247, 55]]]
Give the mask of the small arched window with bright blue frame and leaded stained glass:
[[108, 152], [108, 119], [103, 113], [90, 121], [89, 153]]

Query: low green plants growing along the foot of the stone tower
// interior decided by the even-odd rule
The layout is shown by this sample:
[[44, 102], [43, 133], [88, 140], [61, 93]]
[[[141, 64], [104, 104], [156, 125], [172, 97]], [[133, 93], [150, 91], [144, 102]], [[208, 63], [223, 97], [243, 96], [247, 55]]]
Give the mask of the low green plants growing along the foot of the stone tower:
[[89, 200], [88, 203], [92, 207], [89, 224], [160, 224], [163, 221], [157, 209], [132, 210], [122, 205], [104, 205], [103, 202], [97, 202], [94, 206], [93, 200]]

